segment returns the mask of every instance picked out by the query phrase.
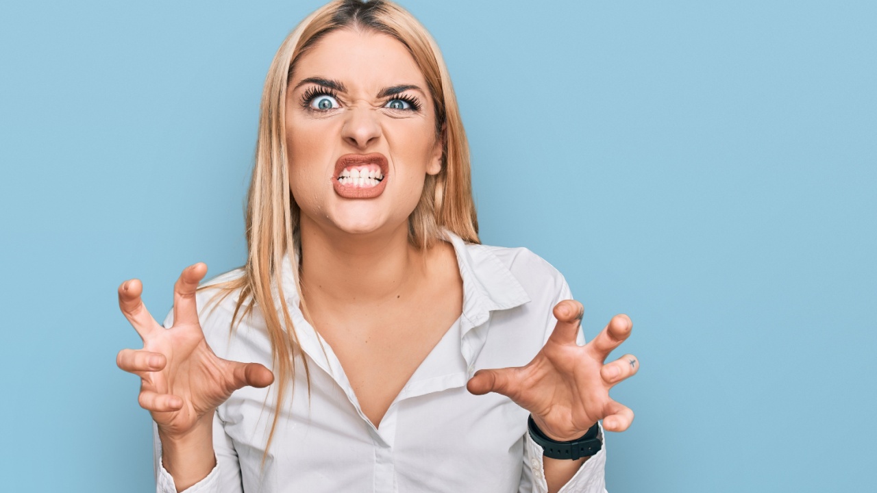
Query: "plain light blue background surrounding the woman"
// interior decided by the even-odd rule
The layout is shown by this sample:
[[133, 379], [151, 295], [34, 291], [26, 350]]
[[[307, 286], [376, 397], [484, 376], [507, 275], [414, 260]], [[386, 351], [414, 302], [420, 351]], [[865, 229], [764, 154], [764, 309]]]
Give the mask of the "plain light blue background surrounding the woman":
[[[0, 8], [8, 491], [153, 489], [115, 366], [181, 268], [243, 263], [262, 81], [321, 2]], [[442, 47], [482, 239], [567, 275], [614, 397], [612, 492], [873, 488], [877, 4], [403, 2]]]

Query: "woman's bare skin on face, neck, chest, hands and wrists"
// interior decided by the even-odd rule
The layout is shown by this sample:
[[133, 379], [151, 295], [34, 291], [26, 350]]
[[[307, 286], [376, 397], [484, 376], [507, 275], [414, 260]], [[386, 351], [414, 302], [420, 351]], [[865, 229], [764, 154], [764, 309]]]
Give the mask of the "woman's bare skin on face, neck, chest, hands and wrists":
[[[300, 82], [315, 77], [341, 82], [346, 90], [331, 101], [326, 96], [303, 101], [317, 84]], [[378, 96], [382, 88], [400, 84], [423, 90]], [[423, 251], [408, 242], [408, 217], [425, 176], [441, 170], [442, 139], [426, 87], [396, 39], [340, 30], [299, 59], [286, 101], [289, 188], [301, 210], [303, 299], [310, 322], [339, 357], [360, 407], [376, 426], [462, 309], [453, 247], [439, 241]], [[406, 108], [397, 99], [403, 96], [416, 97], [419, 110]], [[374, 152], [389, 162], [381, 196], [339, 196], [331, 181], [338, 158]], [[118, 366], [141, 378], [139, 404], [158, 424], [162, 461], [179, 490], [202, 480], [216, 464], [211, 433], [217, 406], [236, 389], [274, 381], [264, 366], [225, 361], [207, 346], [195, 302], [205, 274], [203, 263], [182, 272], [169, 330], [146, 311], [139, 281], [123, 283], [118, 293], [122, 312], [144, 340], [141, 350], [119, 352]], [[626, 355], [604, 361], [630, 335], [630, 318], [613, 318], [579, 347], [581, 313], [578, 302], [561, 302], [554, 307], [558, 323], [551, 338], [529, 364], [480, 370], [467, 389], [510, 397], [553, 439], [578, 438], [599, 419], [607, 430], [624, 431], [633, 413], [613, 401], [609, 389], [634, 375], [638, 360]], [[545, 458], [549, 490], [560, 489], [584, 461]]]

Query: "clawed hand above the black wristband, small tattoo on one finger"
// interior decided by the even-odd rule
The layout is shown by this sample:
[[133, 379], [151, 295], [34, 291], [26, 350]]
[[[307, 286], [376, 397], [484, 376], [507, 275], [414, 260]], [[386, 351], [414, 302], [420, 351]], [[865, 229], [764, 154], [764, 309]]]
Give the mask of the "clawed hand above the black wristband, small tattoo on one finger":
[[525, 410], [551, 439], [578, 439], [597, 420], [610, 432], [624, 432], [633, 421], [633, 411], [609, 397], [609, 389], [634, 375], [639, 361], [625, 354], [604, 364], [613, 349], [631, 335], [633, 326], [626, 315], [616, 315], [588, 344], [575, 339], [584, 308], [574, 300], [554, 307], [557, 325], [545, 347], [524, 367], [482, 369], [467, 383], [476, 395], [496, 392], [510, 397]]

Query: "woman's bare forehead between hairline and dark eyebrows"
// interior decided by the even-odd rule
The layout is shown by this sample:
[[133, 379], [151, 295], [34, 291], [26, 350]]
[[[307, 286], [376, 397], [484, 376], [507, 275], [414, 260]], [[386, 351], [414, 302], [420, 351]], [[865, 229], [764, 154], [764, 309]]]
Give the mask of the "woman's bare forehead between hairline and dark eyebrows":
[[352, 29], [330, 32], [311, 46], [296, 62], [289, 82], [314, 76], [338, 79], [352, 91], [404, 82], [424, 85], [414, 57], [398, 39]]

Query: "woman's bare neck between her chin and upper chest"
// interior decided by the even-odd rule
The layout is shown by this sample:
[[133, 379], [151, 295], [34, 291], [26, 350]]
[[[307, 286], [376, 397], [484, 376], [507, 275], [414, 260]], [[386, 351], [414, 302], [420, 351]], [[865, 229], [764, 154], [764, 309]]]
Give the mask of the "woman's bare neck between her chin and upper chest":
[[389, 232], [327, 232], [303, 218], [302, 291], [335, 306], [380, 304], [417, 282], [424, 253], [408, 242], [408, 224]]

